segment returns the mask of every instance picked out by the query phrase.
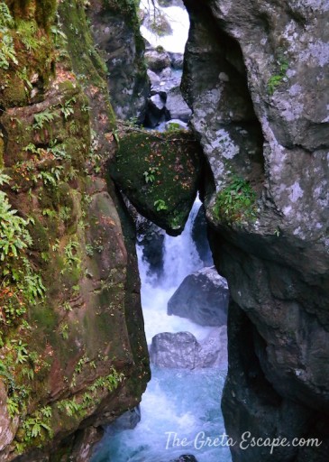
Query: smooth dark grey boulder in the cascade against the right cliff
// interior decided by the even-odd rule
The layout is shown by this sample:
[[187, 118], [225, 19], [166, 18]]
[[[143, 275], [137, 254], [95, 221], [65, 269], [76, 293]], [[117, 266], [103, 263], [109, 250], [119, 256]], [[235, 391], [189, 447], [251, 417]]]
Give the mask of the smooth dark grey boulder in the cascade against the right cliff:
[[227, 282], [212, 266], [184, 279], [169, 299], [167, 312], [201, 326], [224, 326], [228, 302]]

